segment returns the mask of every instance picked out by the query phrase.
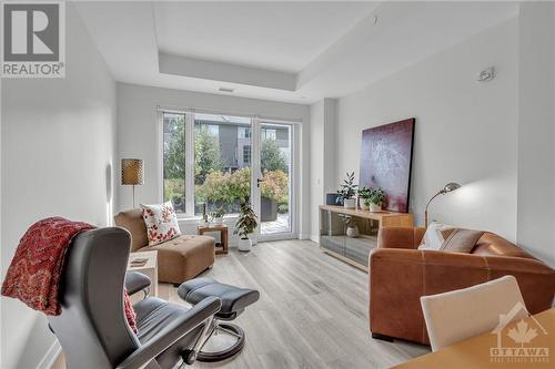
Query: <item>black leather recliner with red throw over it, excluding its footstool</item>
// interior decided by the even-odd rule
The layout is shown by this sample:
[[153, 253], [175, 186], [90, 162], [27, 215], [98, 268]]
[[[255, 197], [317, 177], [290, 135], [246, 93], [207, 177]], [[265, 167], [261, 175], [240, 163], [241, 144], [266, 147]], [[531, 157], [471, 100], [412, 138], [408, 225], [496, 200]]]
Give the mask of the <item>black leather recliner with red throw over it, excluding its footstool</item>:
[[192, 308], [148, 297], [134, 305], [139, 334], [131, 330], [123, 312], [129, 249], [122, 228], [73, 239], [61, 279], [62, 314], [48, 317], [68, 368], [173, 368], [192, 363], [204, 342], [221, 307], [216, 297]]

